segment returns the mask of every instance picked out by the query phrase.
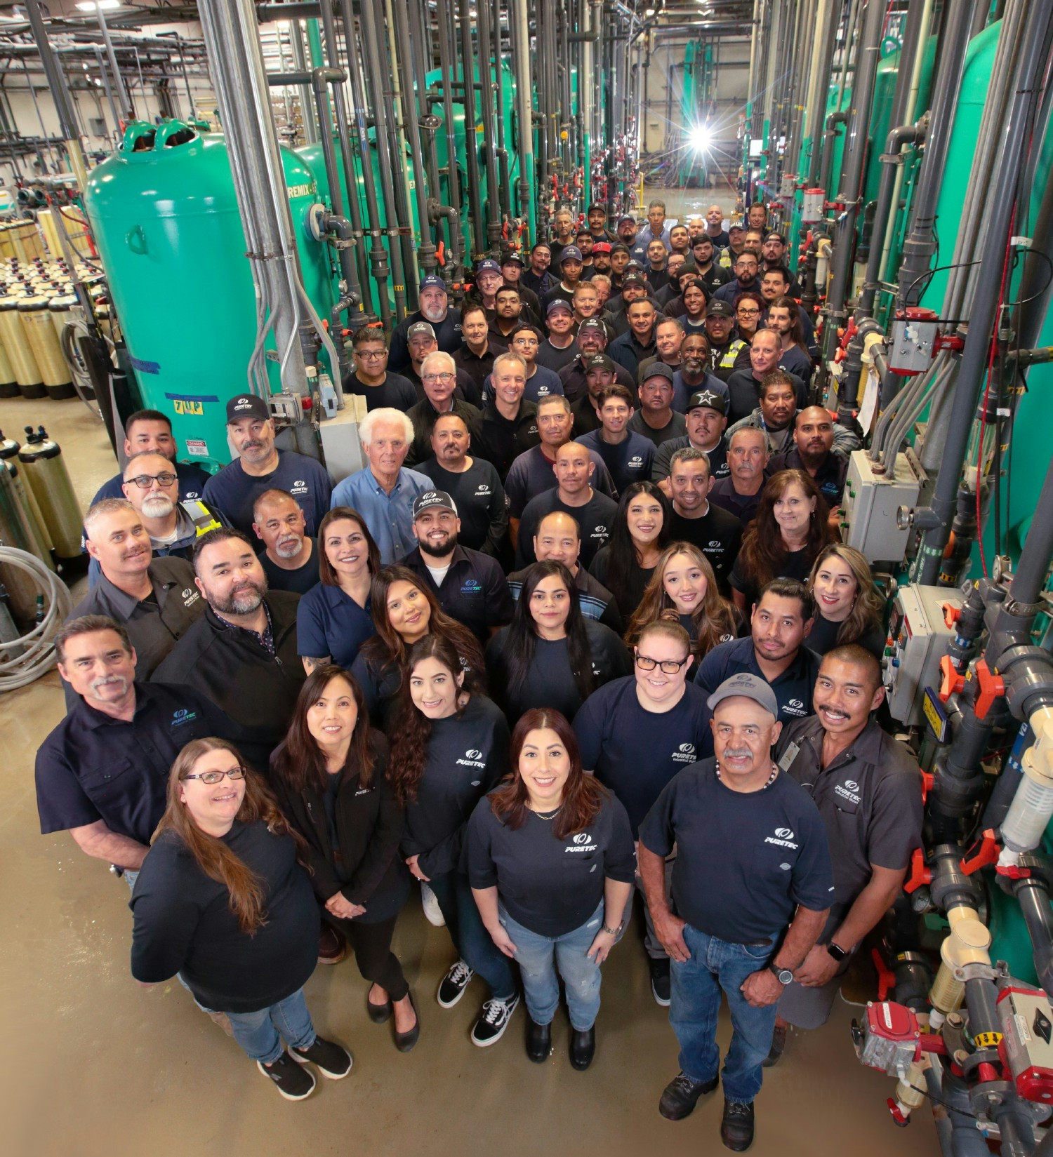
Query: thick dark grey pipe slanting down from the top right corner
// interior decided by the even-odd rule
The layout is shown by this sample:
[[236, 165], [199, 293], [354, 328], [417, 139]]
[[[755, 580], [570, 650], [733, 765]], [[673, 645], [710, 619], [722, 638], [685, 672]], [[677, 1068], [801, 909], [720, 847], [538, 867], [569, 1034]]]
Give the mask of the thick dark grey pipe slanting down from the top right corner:
[[1023, 164], [1023, 150], [1029, 141], [1028, 125], [1038, 103], [1040, 69], [1048, 59], [1050, 39], [1053, 36], [1053, 9], [1028, 2], [1024, 2], [1023, 7], [1025, 12], [1019, 65], [1013, 82], [1009, 118], [1002, 127], [993, 170], [995, 184], [992, 189], [987, 234], [988, 259], [978, 267], [969, 334], [958, 368], [955, 406], [948, 422], [947, 445], [933, 492], [932, 510], [937, 522], [925, 532], [918, 555], [918, 581], [926, 584], [933, 584], [938, 577], [940, 561], [955, 514], [958, 480], [969, 448], [977, 398], [984, 379], [992, 330], [1002, 292], [1003, 263], [994, 257], [1004, 253], [1009, 244], [1016, 184]]

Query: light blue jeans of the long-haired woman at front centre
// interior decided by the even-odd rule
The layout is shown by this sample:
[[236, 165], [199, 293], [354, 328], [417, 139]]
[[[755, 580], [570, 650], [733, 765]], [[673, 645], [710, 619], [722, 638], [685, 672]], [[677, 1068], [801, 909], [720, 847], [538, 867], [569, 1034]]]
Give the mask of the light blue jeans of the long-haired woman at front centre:
[[587, 956], [603, 923], [603, 902], [591, 916], [562, 936], [539, 936], [516, 923], [499, 906], [501, 924], [516, 946], [526, 1009], [535, 1024], [551, 1024], [559, 1004], [559, 977], [567, 990], [567, 1011], [577, 1032], [591, 1029], [599, 1011], [599, 965]]

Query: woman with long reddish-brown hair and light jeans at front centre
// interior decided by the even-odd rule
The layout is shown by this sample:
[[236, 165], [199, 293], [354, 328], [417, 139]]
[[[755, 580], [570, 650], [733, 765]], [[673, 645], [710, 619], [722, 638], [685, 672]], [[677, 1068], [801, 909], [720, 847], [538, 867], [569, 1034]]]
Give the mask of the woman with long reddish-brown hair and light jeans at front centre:
[[494, 944], [518, 961], [526, 1055], [552, 1048], [559, 980], [570, 1064], [596, 1053], [599, 966], [621, 938], [635, 855], [625, 808], [586, 775], [570, 724], [532, 708], [511, 736], [511, 782], [480, 799], [467, 830], [469, 880]]

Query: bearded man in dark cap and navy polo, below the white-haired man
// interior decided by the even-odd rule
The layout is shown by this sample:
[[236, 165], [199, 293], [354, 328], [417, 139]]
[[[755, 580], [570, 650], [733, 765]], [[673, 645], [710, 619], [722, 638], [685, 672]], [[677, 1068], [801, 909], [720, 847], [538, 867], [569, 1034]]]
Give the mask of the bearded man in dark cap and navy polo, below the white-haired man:
[[425, 491], [413, 502], [417, 548], [403, 566], [420, 575], [439, 605], [486, 642], [511, 621], [514, 610], [505, 573], [496, 559], [457, 543], [461, 519], [446, 491]]

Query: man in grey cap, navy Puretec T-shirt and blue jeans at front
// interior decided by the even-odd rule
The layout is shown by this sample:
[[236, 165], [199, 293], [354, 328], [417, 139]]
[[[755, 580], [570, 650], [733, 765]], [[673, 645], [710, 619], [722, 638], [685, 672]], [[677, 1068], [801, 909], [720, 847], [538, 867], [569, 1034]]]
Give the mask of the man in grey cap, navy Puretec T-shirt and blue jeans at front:
[[[687, 1117], [722, 1079], [721, 1141], [742, 1152], [753, 1141], [775, 1007], [823, 928], [833, 872], [818, 809], [772, 761], [782, 729], [772, 688], [741, 672], [707, 706], [715, 757], [669, 781], [640, 825], [638, 860], [655, 931], [672, 958], [669, 1019], [680, 1045], [680, 1071], [658, 1112]], [[673, 846], [670, 906], [665, 857]], [[720, 1073], [722, 995], [732, 1033]]]

